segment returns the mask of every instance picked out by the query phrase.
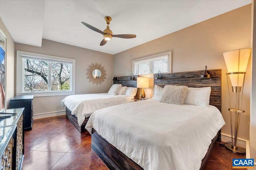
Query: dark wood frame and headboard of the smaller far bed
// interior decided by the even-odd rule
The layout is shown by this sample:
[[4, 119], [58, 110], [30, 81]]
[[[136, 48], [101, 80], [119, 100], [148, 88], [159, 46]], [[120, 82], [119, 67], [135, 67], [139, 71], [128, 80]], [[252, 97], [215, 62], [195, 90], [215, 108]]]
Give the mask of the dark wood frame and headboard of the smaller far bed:
[[[114, 84], [122, 84], [122, 86], [128, 86], [128, 87], [137, 87], [137, 76], [134, 76], [134, 80], [129, 80], [130, 76], [122, 76], [122, 77], [117, 77], [117, 80], [114, 81]], [[138, 98], [138, 91], [137, 94], [134, 98]], [[66, 107], [66, 118], [68, 118], [69, 121], [76, 127], [76, 129], [80, 133], [84, 133], [87, 130], [84, 128], [89, 117], [86, 117], [84, 119], [84, 122], [82, 123], [81, 126], [78, 125], [77, 117], [75, 115], [71, 114], [71, 110]]]

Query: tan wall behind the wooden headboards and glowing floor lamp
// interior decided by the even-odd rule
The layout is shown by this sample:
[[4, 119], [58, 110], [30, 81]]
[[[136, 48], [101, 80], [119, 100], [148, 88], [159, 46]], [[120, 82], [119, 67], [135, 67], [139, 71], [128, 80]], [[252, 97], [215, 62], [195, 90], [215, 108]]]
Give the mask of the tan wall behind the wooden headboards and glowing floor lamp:
[[[251, 5], [211, 18], [164, 37], [144, 43], [114, 55], [114, 74], [132, 73], [132, 60], [172, 51], [172, 72], [222, 68], [222, 115], [226, 125], [222, 133], [230, 135], [227, 97], [227, 72], [222, 53], [233, 49], [251, 47]], [[175, 23], [174, 23], [175, 24]], [[249, 140], [250, 77], [248, 63], [239, 138]]]

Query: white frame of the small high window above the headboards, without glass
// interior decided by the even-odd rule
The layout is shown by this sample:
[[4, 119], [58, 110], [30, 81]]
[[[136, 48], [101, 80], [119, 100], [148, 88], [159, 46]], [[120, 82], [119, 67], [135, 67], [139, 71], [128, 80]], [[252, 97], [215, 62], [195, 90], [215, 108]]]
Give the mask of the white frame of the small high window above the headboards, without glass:
[[132, 61], [132, 73], [134, 75], [138, 75], [138, 64], [142, 64], [142, 63], [146, 63], [146, 62], [150, 62], [150, 73], [149, 74], [153, 74], [153, 61], [158, 61], [161, 58], [165, 58], [166, 55], [168, 56], [168, 72], [172, 72], [172, 51], [169, 51], [167, 53], [162, 53], [162, 54], [158, 54], [158, 55], [152, 55], [149, 57], [144, 57], [142, 59], [136, 59]]

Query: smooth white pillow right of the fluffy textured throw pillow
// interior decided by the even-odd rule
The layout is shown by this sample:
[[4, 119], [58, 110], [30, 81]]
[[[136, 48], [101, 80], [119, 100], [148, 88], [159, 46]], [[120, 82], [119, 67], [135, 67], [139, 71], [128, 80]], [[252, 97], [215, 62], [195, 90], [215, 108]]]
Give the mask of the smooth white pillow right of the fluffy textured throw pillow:
[[211, 87], [188, 88], [184, 104], [208, 106], [210, 104]]

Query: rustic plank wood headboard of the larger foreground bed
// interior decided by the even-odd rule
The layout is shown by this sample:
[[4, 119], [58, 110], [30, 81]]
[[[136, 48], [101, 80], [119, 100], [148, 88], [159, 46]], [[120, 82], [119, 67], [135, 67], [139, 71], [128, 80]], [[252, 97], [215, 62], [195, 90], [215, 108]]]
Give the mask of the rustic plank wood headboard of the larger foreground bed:
[[[210, 71], [210, 78], [200, 78], [202, 70], [161, 73], [162, 79], [154, 80], [158, 86], [177, 85], [188, 87], [211, 87], [210, 105], [217, 107], [221, 111], [221, 69]], [[154, 78], [156, 74], [154, 74]]]

